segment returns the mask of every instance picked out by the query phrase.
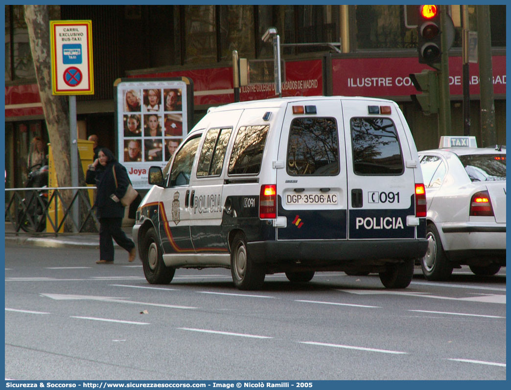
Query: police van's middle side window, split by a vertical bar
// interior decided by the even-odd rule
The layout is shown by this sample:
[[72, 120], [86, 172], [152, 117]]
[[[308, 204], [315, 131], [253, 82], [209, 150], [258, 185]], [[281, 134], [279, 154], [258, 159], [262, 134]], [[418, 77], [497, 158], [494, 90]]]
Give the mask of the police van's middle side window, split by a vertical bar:
[[222, 173], [225, 151], [232, 130], [228, 128], [207, 131], [197, 166], [197, 177], [218, 176]]

